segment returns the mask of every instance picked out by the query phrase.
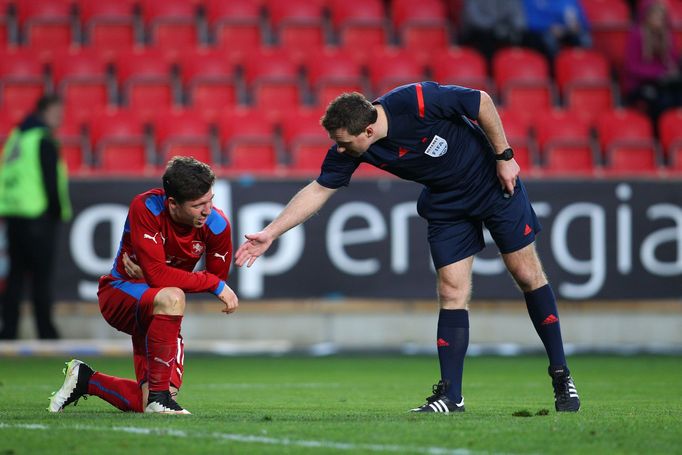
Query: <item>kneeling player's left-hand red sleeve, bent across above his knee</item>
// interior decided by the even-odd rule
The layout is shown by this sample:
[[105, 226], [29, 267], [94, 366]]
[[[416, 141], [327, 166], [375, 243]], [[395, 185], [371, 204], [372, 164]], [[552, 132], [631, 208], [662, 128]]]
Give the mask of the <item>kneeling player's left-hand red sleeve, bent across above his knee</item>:
[[146, 283], [153, 288], [177, 287], [185, 292], [215, 292], [220, 278], [207, 271], [187, 272], [166, 264], [161, 226], [144, 204], [136, 198], [130, 205], [130, 242]]

